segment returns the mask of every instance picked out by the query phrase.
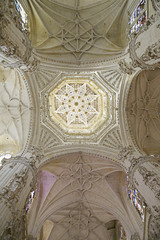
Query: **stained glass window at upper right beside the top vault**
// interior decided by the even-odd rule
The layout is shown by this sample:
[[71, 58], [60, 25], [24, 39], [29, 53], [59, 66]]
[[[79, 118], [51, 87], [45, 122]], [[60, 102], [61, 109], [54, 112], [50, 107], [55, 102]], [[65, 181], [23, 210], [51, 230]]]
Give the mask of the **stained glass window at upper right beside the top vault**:
[[133, 11], [129, 18], [130, 32], [131, 35], [134, 32], [138, 32], [141, 26], [146, 22], [147, 11], [146, 11], [146, 0], [141, 0], [138, 6]]

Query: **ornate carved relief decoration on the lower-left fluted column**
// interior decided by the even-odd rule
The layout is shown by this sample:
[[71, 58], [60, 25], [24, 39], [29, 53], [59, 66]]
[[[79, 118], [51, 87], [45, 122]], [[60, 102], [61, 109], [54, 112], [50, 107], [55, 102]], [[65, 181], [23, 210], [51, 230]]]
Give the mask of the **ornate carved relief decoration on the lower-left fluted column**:
[[[31, 146], [25, 156], [12, 157], [9, 159], [9, 162], [5, 163], [11, 163], [11, 168], [16, 167], [17, 164], [22, 164], [24, 166], [19, 172], [16, 172], [14, 176], [12, 176], [12, 179], [0, 192], [0, 200], [4, 201], [12, 214], [11, 221], [1, 235], [2, 240], [24, 240], [27, 237], [24, 213], [25, 208], [17, 210], [17, 203], [19, 201], [19, 195], [28, 181], [29, 170], [31, 170], [33, 174], [33, 178], [29, 179], [30, 189], [35, 189], [35, 184], [37, 182], [37, 165], [42, 157], [42, 150], [38, 147]], [[28, 199], [27, 196], [27, 200]]]

